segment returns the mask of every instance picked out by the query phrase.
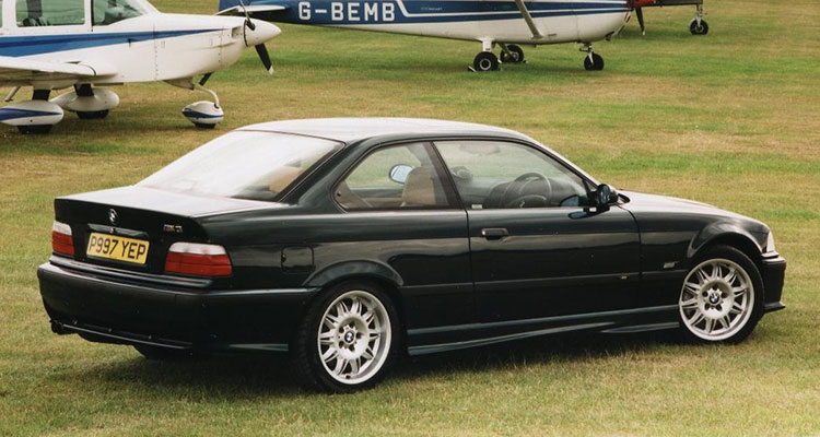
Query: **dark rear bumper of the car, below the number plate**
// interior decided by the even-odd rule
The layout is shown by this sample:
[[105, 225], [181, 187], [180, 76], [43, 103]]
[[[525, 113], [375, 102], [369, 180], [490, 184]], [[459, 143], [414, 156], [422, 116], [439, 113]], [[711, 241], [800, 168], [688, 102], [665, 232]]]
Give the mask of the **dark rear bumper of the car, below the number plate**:
[[[117, 344], [208, 352], [288, 351], [317, 288], [202, 290], [147, 282], [71, 261], [37, 270], [43, 304], [57, 333]], [[74, 268], [72, 268], [74, 267]], [[98, 271], [97, 271], [98, 270]]]

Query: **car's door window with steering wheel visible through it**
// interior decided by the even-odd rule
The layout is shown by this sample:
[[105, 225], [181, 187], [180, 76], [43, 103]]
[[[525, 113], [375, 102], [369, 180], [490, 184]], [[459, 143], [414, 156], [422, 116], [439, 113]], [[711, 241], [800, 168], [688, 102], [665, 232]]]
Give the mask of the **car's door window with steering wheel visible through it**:
[[584, 179], [534, 147], [500, 141], [435, 145], [467, 208], [558, 208], [589, 202]]

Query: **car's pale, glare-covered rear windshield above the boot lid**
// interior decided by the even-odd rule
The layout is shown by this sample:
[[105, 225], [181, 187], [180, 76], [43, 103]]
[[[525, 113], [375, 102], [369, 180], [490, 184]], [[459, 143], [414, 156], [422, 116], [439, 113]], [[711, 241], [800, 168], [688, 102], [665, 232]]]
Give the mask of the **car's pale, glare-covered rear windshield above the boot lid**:
[[249, 200], [277, 196], [341, 143], [284, 133], [220, 137], [139, 182], [140, 187]]

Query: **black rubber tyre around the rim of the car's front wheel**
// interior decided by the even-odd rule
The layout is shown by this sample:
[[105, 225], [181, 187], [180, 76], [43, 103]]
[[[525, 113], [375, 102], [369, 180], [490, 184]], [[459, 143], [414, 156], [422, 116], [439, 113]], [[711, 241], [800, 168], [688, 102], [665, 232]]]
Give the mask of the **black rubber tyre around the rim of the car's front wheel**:
[[[737, 262], [740, 267], [746, 270], [746, 273], [749, 275], [749, 279], [752, 281], [752, 286], [754, 286], [754, 303], [752, 304], [752, 314], [749, 316], [749, 320], [747, 320], [746, 326], [743, 326], [735, 335], [719, 341], [711, 341], [701, 339], [700, 336], [693, 334], [689, 331], [689, 329], [683, 324], [683, 321], [680, 320], [680, 328], [679, 332], [681, 338], [690, 343], [702, 343], [702, 344], [737, 344], [746, 340], [754, 330], [754, 327], [758, 326], [758, 322], [763, 317], [763, 303], [765, 302], [765, 290], [763, 287], [763, 277], [760, 274], [760, 270], [758, 270], [758, 267], [754, 264], [754, 261], [749, 259], [749, 257], [740, 251], [739, 249], [731, 247], [731, 246], [712, 246], [706, 249], [704, 249], [701, 253], [694, 257], [692, 260], [691, 268], [694, 269], [698, 264], [700, 264], [703, 261], [715, 259], [715, 258], [723, 258], [730, 261]], [[691, 271], [691, 270], [690, 270]], [[687, 273], [687, 276], [689, 276], [689, 272]], [[684, 280], [686, 281], [686, 280]], [[681, 287], [683, 285], [681, 284]], [[678, 316], [680, 317], [680, 315]]]

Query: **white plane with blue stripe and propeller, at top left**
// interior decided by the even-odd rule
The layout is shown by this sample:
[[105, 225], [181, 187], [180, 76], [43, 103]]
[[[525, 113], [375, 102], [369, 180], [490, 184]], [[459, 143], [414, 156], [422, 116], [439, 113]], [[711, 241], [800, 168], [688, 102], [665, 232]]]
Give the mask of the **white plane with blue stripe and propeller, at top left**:
[[[145, 0], [0, 0], [0, 87], [12, 87], [5, 102], [23, 86], [34, 90], [31, 101], [1, 107], [0, 122], [46, 133], [63, 110], [105, 118], [119, 97], [99, 85], [165, 81], [210, 94], [213, 102], [183, 114], [197, 127], [213, 127], [224, 113], [204, 87], [208, 79], [247, 47], [272, 73], [265, 43], [279, 33], [247, 17], [165, 14]], [[52, 91], [72, 86], [49, 101]]]

